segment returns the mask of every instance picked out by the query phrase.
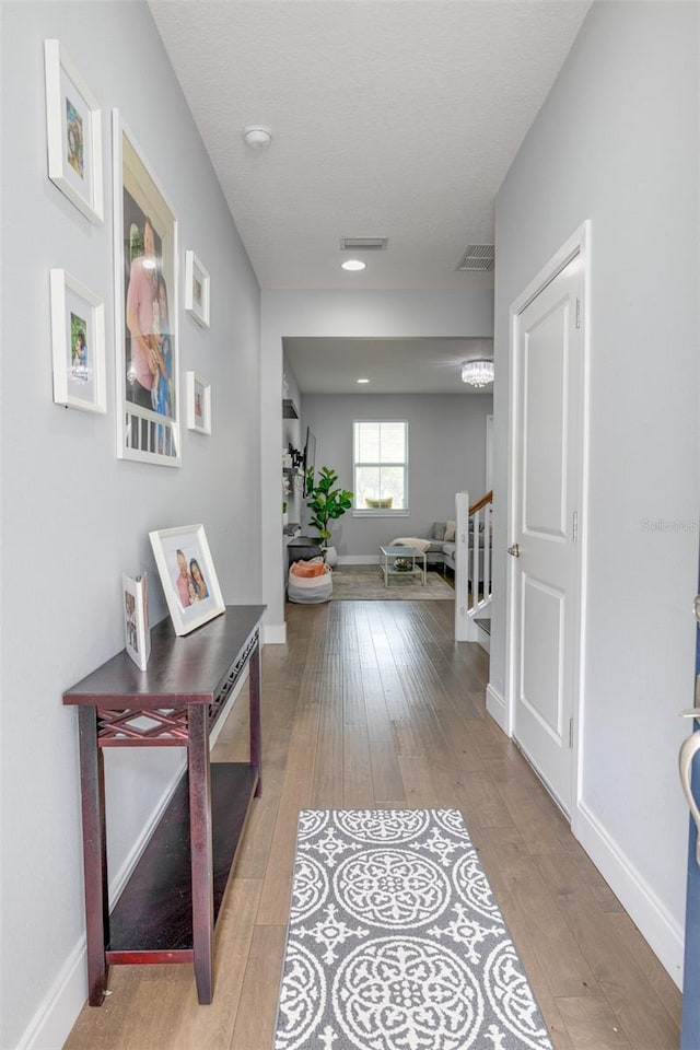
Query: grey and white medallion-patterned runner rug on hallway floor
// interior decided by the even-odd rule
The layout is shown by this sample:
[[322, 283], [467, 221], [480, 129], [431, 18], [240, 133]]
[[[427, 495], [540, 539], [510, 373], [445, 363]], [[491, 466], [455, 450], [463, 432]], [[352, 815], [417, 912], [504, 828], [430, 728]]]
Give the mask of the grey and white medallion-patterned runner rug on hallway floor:
[[304, 809], [275, 1050], [552, 1050], [456, 809]]

